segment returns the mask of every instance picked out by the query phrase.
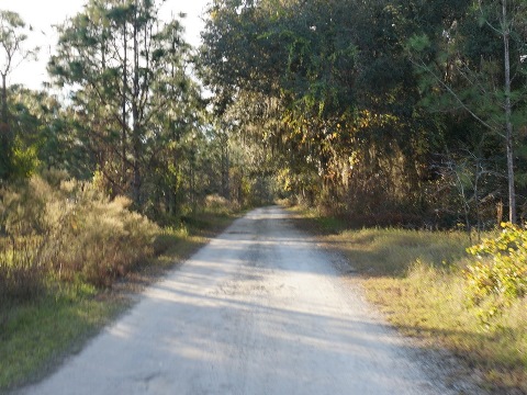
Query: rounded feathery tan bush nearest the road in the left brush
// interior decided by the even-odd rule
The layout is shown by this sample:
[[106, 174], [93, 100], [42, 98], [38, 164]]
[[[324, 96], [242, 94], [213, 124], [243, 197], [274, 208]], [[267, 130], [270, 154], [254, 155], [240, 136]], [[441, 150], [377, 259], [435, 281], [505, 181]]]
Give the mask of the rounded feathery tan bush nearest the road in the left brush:
[[[88, 282], [108, 286], [131, 267], [153, 256], [158, 228], [128, 210], [131, 201], [110, 201], [90, 183], [61, 184], [67, 199], [49, 202], [54, 225], [51, 249], [53, 264], [63, 279], [81, 275]], [[57, 253], [58, 252], [58, 253]]]

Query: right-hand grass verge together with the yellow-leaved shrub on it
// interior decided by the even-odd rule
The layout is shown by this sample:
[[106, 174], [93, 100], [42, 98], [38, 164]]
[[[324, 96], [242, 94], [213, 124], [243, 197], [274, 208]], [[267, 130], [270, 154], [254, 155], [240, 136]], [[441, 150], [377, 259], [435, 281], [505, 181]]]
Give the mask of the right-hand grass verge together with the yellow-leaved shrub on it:
[[296, 213], [404, 335], [451, 351], [493, 393], [527, 392], [526, 230], [504, 224], [476, 242], [459, 230], [349, 229]]

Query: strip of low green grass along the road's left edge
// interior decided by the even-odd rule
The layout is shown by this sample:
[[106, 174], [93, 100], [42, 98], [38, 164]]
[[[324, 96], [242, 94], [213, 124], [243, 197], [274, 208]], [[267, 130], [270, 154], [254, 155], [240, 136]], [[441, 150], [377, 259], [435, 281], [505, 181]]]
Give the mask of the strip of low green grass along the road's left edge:
[[234, 218], [208, 213], [187, 226], [165, 229], [155, 245], [159, 256], [136, 266], [112, 289], [51, 281], [33, 301], [0, 301], [0, 393], [42, 379], [66, 356], [80, 351], [131, 306], [131, 293], [187, 259]]

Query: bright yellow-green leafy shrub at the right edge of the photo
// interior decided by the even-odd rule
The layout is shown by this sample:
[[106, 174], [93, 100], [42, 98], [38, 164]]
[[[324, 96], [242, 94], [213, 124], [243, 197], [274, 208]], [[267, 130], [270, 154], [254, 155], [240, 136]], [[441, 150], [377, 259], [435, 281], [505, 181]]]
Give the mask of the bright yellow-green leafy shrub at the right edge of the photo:
[[502, 306], [527, 295], [527, 230], [505, 223], [496, 238], [468, 249], [476, 261], [467, 267], [466, 292], [486, 324]]

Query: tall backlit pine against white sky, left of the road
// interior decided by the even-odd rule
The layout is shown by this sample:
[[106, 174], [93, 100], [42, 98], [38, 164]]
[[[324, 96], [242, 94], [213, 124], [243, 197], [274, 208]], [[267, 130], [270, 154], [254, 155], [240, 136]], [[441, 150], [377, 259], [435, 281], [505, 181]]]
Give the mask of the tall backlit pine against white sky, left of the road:
[[60, 27], [49, 63], [56, 81], [74, 89], [81, 133], [112, 193], [137, 207], [159, 127], [192, 90], [181, 31], [177, 20], [159, 21], [152, 0], [90, 0]]

